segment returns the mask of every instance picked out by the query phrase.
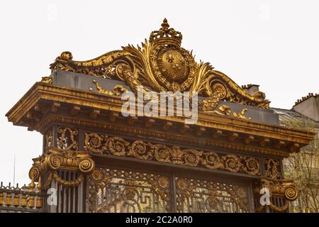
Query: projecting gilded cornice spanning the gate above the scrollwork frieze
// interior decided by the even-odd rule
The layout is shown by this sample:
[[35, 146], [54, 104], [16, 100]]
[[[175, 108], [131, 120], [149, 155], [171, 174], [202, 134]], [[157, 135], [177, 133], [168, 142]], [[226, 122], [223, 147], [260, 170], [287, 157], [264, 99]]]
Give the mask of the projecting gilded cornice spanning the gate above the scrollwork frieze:
[[[128, 126], [127, 124], [119, 125], [110, 121], [97, 121], [94, 118], [78, 118], [72, 116], [72, 114], [59, 114], [59, 111], [52, 112], [52, 104], [59, 104], [64, 106], [65, 111], [72, 111], [74, 106], [77, 106], [81, 111], [99, 110], [98, 113], [101, 116], [108, 116], [110, 113], [116, 113], [118, 118], [124, 118], [121, 116], [121, 104], [123, 101], [119, 96], [110, 96], [106, 94], [99, 94], [98, 92], [84, 91], [69, 87], [60, 87], [54, 84], [45, 84], [37, 82], [33, 87], [17, 102], [16, 105], [6, 114], [9, 121], [14, 125], [28, 126], [30, 130], [39, 131], [43, 133], [45, 127], [54, 121], [60, 123], [69, 123], [78, 126], [86, 126], [93, 128], [101, 128], [107, 130], [116, 130], [123, 133], [133, 133], [145, 136], [155, 136], [159, 138], [166, 138], [169, 140], [185, 141], [187, 143], [203, 143], [203, 136], [200, 135], [201, 131], [213, 134], [213, 131], [226, 131], [230, 137], [234, 134], [245, 134], [247, 136], [252, 135], [253, 140], [260, 140], [262, 138], [269, 138], [274, 142], [285, 144], [291, 143], [298, 148], [310, 143], [313, 140], [315, 134], [308, 131], [301, 131], [291, 128], [284, 128], [282, 126], [274, 126], [264, 123], [256, 123], [252, 121], [245, 121], [237, 118], [231, 118], [228, 116], [219, 116], [216, 114], [205, 114], [203, 112], [198, 113], [198, 121], [194, 125], [189, 125], [192, 131], [198, 130], [198, 135], [181, 135], [180, 131], [159, 131], [158, 128], [143, 127], [136, 128], [135, 126]], [[40, 107], [39, 107], [40, 106]], [[38, 108], [38, 109], [37, 109]], [[39, 110], [42, 109], [42, 110]], [[34, 116], [34, 117], [33, 117]], [[89, 116], [86, 113], [85, 116]], [[170, 122], [177, 128], [184, 127], [184, 117], [177, 116], [158, 116], [150, 117], [154, 122]], [[145, 121], [145, 117], [138, 117], [138, 121]], [[225, 135], [225, 133], [224, 133]], [[277, 141], [278, 140], [278, 141]], [[214, 147], [223, 147], [229, 149], [239, 149], [247, 152], [257, 152], [264, 154], [279, 155], [281, 157], [287, 156], [290, 152], [276, 149], [262, 148], [262, 146], [253, 147], [250, 143], [239, 148], [238, 145], [229, 142], [218, 142], [216, 140], [206, 140], [206, 145], [212, 145]]]

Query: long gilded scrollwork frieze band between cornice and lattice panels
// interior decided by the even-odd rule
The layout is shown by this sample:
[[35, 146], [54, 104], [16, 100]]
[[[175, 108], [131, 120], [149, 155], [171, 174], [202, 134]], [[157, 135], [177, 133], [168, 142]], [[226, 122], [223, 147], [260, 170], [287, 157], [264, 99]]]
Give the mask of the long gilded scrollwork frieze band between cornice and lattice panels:
[[140, 160], [155, 160], [253, 176], [261, 174], [259, 159], [254, 157], [225, 155], [191, 148], [182, 149], [179, 146], [153, 144], [142, 140], [130, 142], [121, 137], [111, 137], [98, 133], [85, 133], [84, 148], [92, 153], [134, 157]]

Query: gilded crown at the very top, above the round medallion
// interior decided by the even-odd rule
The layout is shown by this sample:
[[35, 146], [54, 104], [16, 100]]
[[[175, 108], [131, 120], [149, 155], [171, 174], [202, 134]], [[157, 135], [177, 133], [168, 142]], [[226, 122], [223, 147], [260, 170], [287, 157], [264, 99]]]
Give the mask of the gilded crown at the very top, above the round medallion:
[[169, 28], [167, 19], [164, 18], [162, 28], [159, 31], [152, 31], [150, 34], [150, 43], [163, 43], [170, 45], [181, 45], [182, 35], [179, 31], [175, 31], [174, 28]]

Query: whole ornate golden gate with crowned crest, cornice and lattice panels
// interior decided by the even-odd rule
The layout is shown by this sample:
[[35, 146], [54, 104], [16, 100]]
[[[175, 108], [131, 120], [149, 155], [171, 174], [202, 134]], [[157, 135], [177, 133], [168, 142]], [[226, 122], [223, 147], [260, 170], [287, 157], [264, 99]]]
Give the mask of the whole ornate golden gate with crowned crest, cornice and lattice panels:
[[[287, 211], [298, 192], [283, 179], [282, 160], [314, 133], [279, 126], [264, 93], [195, 62], [181, 38], [165, 19], [142, 48], [129, 45], [84, 62], [62, 52], [50, 77], [6, 114], [14, 125], [43, 134], [43, 154], [29, 176], [43, 193], [55, 189], [57, 204], [43, 200], [41, 209]], [[138, 94], [140, 86], [145, 95], [198, 92], [197, 121], [123, 113], [121, 94]], [[169, 106], [173, 113], [176, 105]], [[262, 187], [270, 204], [259, 203]]]

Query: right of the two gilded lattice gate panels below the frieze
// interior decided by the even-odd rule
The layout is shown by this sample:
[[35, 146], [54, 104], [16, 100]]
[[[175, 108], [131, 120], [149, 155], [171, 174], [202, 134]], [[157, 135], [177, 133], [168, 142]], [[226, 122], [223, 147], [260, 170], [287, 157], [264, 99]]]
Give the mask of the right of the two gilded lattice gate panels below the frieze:
[[245, 213], [250, 211], [247, 187], [200, 179], [176, 179], [177, 211]]

